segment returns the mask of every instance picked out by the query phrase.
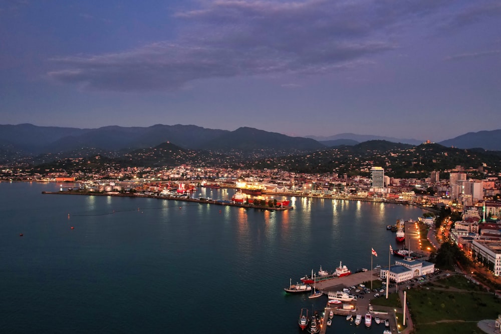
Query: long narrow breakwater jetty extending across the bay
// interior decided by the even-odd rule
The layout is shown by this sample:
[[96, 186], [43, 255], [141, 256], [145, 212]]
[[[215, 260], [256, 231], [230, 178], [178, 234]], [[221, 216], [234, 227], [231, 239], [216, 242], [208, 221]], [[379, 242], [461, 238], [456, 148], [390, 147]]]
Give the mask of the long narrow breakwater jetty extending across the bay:
[[140, 197], [140, 198], [155, 198], [162, 200], [174, 200], [183, 202], [195, 202], [200, 204], [214, 204], [214, 205], [225, 205], [225, 206], [236, 206], [241, 208], [251, 208], [260, 210], [272, 210], [272, 211], [284, 211], [291, 210], [292, 206], [269, 206], [269, 205], [254, 205], [245, 203], [235, 203], [231, 201], [214, 200], [209, 198], [191, 198], [187, 196], [170, 196], [170, 195], [154, 195], [154, 194], [144, 194], [144, 193], [120, 193], [120, 192], [93, 192], [93, 191], [73, 191], [73, 190], [63, 190], [63, 191], [42, 191], [42, 194], [51, 195], [84, 195], [84, 196], [114, 196], [114, 197]]

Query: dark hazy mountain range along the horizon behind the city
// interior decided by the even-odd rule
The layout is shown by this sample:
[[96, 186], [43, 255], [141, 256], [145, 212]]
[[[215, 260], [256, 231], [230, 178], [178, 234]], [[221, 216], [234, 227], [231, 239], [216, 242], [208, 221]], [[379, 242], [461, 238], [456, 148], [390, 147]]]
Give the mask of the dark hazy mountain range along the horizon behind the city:
[[[416, 139], [351, 133], [330, 137], [290, 137], [248, 127], [228, 131], [180, 124], [157, 124], [150, 127], [106, 126], [97, 129], [19, 124], [0, 125], [0, 161], [13, 161], [24, 156], [78, 151], [129, 152], [155, 147], [164, 142], [170, 142], [188, 150], [220, 153], [243, 152], [243, 154], [252, 154], [253, 157], [256, 157], [256, 154], [264, 157], [301, 154], [343, 145], [353, 146], [369, 140], [385, 140], [410, 145], [421, 143]], [[501, 130], [471, 132], [439, 144], [463, 149], [483, 148], [497, 151], [501, 150]]]

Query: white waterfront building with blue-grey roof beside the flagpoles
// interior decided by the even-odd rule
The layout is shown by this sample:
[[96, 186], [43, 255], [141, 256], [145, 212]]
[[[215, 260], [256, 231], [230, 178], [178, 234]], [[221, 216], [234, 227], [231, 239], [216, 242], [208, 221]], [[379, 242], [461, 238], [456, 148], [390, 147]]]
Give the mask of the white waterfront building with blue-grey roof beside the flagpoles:
[[[435, 263], [411, 258], [396, 260], [390, 267], [390, 280], [397, 283], [412, 279], [417, 276], [427, 275], [435, 271]], [[386, 279], [388, 269], [381, 269], [380, 277]]]

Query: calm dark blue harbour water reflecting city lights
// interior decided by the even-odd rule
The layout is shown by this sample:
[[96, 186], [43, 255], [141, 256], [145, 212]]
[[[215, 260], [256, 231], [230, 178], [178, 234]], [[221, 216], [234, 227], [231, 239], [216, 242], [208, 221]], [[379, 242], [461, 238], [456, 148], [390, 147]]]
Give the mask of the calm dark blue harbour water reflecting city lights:
[[[386, 225], [422, 215], [299, 197], [294, 210], [270, 212], [41, 193], [57, 189], [0, 183], [2, 333], [299, 333], [301, 307], [323, 309], [327, 299], [287, 295], [290, 278], [339, 261], [369, 268], [371, 247], [380, 253], [374, 266], [385, 264], [388, 244], [396, 246]], [[383, 329], [335, 317], [327, 332]]]

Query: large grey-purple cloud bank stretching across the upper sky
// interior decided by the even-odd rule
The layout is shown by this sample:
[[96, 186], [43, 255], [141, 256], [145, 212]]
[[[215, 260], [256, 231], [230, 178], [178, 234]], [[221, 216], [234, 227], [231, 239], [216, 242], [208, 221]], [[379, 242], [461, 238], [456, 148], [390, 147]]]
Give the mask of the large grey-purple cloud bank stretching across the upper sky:
[[52, 59], [48, 76], [89, 90], [175, 91], [210, 78], [318, 75], [373, 64], [402, 25], [448, 1], [200, 2], [179, 11], [179, 35], [133, 50]]

